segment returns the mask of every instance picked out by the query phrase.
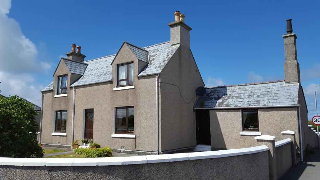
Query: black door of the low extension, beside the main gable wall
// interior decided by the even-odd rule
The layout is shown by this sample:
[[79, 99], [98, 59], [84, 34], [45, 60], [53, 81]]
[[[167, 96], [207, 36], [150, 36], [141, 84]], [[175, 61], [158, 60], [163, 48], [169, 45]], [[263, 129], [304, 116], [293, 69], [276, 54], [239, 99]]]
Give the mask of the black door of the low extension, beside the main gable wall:
[[210, 110], [196, 110], [197, 144], [211, 145]]

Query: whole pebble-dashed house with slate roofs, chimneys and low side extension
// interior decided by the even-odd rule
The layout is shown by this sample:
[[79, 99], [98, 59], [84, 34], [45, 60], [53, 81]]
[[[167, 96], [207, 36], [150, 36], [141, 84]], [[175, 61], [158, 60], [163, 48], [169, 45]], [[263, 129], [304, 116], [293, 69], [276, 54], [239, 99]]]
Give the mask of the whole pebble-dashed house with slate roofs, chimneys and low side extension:
[[264, 134], [281, 140], [290, 130], [297, 152], [305, 150], [308, 110], [291, 20], [283, 36], [285, 80], [204, 88], [191, 28], [183, 14], [174, 16], [164, 43], [124, 42], [116, 54], [88, 61], [72, 45], [42, 90], [40, 142], [70, 146], [88, 138], [131, 153], [210, 151], [255, 146], [253, 137]]

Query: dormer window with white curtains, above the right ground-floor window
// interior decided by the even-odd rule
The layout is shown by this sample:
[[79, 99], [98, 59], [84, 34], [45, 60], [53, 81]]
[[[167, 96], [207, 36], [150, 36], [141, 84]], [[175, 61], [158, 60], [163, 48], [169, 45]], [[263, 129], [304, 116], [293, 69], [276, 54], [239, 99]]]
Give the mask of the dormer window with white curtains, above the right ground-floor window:
[[133, 62], [118, 65], [117, 87], [133, 85]]

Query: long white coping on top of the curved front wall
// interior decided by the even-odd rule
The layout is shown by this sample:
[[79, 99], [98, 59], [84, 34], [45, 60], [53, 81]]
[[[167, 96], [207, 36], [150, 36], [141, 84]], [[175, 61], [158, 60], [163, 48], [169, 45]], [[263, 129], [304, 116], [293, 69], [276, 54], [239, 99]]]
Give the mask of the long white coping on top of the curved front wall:
[[212, 159], [229, 156], [238, 156], [268, 151], [266, 145], [242, 149], [221, 151], [189, 152], [176, 154], [161, 154], [131, 157], [107, 158], [0, 158], [0, 165], [8, 166], [113, 166], [128, 164], [147, 164], [174, 162], [184, 160]]

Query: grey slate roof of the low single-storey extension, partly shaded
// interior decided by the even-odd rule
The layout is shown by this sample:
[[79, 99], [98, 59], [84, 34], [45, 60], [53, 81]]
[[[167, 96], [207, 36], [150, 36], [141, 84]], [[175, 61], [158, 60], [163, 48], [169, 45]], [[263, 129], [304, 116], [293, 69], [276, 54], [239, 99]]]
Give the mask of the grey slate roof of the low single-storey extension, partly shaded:
[[296, 105], [298, 91], [298, 83], [284, 84], [284, 81], [206, 88], [195, 109]]

